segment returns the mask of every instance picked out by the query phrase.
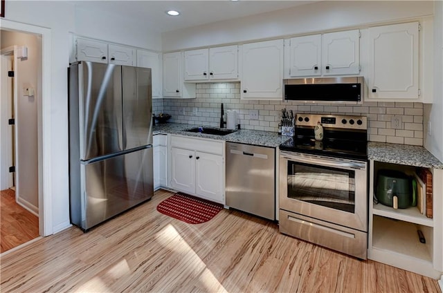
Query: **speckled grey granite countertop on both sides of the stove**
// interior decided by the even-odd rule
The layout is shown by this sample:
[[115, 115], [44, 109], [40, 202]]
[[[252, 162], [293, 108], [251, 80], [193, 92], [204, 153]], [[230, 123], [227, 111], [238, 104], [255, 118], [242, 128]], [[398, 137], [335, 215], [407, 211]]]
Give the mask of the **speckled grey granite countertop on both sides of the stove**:
[[[260, 147], [277, 148], [282, 142], [289, 140], [288, 136], [278, 135], [270, 131], [254, 131], [240, 129], [228, 135], [210, 135], [184, 131], [201, 125], [165, 123], [154, 126], [154, 135], [159, 133], [185, 135], [195, 138], [209, 138], [212, 140], [225, 140], [226, 142], [238, 142], [253, 144]], [[208, 126], [210, 127], [210, 126]], [[406, 144], [388, 144], [383, 142], [368, 142], [368, 160], [404, 164], [413, 167], [425, 167], [443, 169], [443, 162], [424, 147]]]

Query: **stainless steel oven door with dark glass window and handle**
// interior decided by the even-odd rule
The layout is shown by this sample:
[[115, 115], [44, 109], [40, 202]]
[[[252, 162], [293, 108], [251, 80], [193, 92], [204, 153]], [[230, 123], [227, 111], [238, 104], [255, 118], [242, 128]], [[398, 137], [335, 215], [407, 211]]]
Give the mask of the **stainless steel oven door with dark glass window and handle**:
[[368, 231], [367, 163], [280, 151], [280, 209]]

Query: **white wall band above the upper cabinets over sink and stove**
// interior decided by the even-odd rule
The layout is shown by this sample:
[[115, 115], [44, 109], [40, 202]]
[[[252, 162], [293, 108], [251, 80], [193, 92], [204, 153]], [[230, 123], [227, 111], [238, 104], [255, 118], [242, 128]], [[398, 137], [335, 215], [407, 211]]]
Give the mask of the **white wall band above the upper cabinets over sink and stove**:
[[433, 14], [433, 1], [322, 1], [165, 32], [163, 51], [370, 26]]

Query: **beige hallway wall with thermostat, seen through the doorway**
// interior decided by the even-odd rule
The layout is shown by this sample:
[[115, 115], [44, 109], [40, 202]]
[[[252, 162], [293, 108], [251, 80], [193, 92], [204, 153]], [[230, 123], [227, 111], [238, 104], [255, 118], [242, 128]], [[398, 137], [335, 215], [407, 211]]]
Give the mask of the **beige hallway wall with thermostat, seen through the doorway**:
[[[26, 46], [27, 59], [15, 59], [17, 78], [17, 197], [22, 205], [38, 211], [38, 169], [37, 169], [37, 105], [42, 102], [42, 91], [37, 76], [42, 71], [39, 59], [42, 55], [42, 42], [35, 35], [21, 32], [1, 32], [1, 47]], [[24, 97], [23, 88], [34, 88], [34, 97]]]

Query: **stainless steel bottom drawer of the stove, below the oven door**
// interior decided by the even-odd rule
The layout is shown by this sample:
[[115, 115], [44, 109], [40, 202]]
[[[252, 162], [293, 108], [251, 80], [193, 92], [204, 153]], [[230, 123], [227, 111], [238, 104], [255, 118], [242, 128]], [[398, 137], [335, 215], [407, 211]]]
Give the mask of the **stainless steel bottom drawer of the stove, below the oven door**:
[[368, 234], [280, 209], [280, 232], [366, 259]]

